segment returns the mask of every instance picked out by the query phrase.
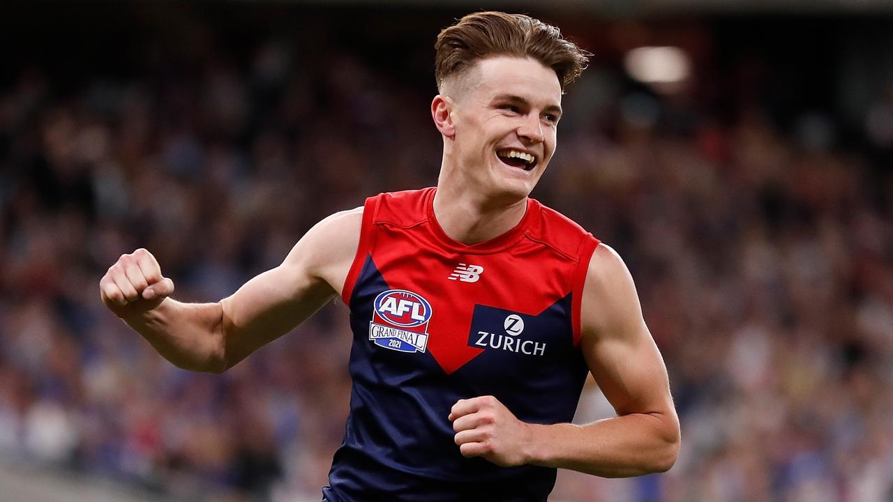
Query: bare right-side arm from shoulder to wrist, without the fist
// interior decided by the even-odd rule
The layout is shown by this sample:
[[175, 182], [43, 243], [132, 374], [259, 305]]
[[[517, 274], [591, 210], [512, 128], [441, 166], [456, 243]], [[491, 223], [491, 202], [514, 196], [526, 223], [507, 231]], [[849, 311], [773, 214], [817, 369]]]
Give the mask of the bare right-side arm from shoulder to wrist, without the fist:
[[583, 426], [532, 425], [530, 462], [605, 477], [670, 469], [680, 429], [666, 366], [630, 272], [605, 245], [589, 264], [581, 315], [583, 355], [617, 416]]

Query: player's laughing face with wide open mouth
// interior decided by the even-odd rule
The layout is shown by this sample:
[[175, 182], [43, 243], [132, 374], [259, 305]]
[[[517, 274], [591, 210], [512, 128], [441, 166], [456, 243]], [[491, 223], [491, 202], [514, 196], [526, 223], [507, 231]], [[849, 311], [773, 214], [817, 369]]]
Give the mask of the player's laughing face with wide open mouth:
[[530, 195], [555, 152], [561, 117], [555, 71], [533, 59], [498, 56], [452, 83], [444, 89], [453, 132], [445, 134], [452, 164], [446, 167], [463, 189], [484, 197]]

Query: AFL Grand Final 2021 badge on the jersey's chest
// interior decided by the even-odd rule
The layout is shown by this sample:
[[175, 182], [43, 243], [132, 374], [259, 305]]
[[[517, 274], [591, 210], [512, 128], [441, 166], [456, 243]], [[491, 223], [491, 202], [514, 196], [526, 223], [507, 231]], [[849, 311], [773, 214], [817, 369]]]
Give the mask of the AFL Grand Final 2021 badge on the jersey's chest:
[[428, 300], [405, 289], [388, 289], [372, 303], [369, 339], [400, 352], [424, 352], [428, 345]]

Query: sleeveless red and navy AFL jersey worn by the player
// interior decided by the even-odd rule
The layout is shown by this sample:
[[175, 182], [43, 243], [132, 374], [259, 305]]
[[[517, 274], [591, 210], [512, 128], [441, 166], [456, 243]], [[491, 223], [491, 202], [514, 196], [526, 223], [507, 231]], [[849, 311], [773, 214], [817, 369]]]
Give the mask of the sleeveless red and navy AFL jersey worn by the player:
[[586, 379], [580, 296], [598, 244], [533, 199], [505, 234], [466, 246], [435, 188], [366, 200], [342, 292], [354, 385], [331, 502], [545, 501], [555, 469], [464, 458], [447, 420], [492, 395], [527, 423], [570, 422]]

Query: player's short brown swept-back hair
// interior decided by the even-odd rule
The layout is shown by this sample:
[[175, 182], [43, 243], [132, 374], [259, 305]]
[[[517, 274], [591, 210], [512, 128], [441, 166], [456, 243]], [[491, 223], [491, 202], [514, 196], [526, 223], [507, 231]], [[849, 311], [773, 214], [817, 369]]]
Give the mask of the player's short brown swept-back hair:
[[472, 13], [443, 29], [434, 44], [434, 76], [444, 80], [488, 56], [531, 57], [551, 68], [562, 91], [586, 68], [588, 53], [562, 38], [561, 31], [524, 14]]

